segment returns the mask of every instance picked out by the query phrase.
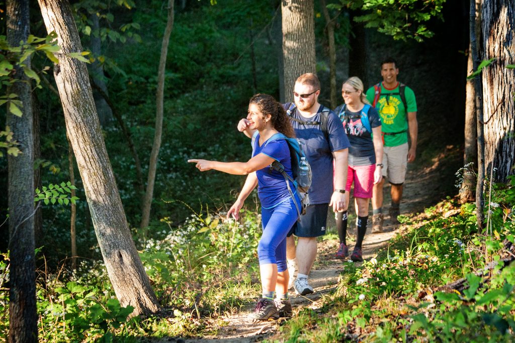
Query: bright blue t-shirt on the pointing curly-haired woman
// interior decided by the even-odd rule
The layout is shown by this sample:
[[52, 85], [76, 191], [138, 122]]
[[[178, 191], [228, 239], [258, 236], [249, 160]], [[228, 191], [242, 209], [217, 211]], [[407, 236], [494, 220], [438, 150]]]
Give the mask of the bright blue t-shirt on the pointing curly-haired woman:
[[[254, 146], [252, 147], [252, 157], [263, 153], [277, 160], [284, 166], [286, 173], [293, 178], [293, 173], [291, 172], [291, 157], [286, 140], [266, 140], [263, 145], [260, 146], [259, 139], [260, 135], [258, 133], [255, 137]], [[266, 166], [263, 169], [256, 170], [256, 176], [258, 176], [258, 196], [261, 201], [261, 206], [264, 208], [277, 206], [291, 197], [284, 176], [280, 172], [270, 169], [270, 166]], [[291, 182], [290, 188], [295, 192], [295, 186]]]

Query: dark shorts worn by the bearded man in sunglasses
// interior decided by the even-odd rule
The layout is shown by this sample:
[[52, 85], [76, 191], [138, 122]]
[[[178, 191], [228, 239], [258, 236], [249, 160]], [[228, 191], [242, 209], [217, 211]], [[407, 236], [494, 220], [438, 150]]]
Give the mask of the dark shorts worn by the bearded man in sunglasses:
[[288, 237], [295, 234], [297, 237], [319, 237], [325, 234], [327, 228], [327, 209], [329, 204], [310, 205], [306, 208], [306, 214], [300, 216], [300, 221], [295, 222], [288, 232]]

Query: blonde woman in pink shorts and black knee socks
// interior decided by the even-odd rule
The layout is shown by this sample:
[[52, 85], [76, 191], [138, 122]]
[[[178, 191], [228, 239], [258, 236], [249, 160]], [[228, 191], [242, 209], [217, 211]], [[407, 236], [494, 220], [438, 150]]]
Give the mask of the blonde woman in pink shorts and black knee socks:
[[[347, 174], [347, 203], [354, 183], [354, 205], [356, 208], [357, 240], [351, 255], [352, 261], [363, 261], [362, 244], [367, 231], [368, 203], [372, 197], [372, 186], [381, 181], [383, 168], [383, 141], [381, 137], [381, 117], [370, 105], [364, 92], [363, 82], [352, 77], [341, 86], [341, 96], [345, 103], [336, 107], [351, 143], [349, 148], [349, 170]], [[345, 259], [349, 255], [347, 247], [347, 211], [336, 213], [336, 227], [340, 245], [336, 258]]]

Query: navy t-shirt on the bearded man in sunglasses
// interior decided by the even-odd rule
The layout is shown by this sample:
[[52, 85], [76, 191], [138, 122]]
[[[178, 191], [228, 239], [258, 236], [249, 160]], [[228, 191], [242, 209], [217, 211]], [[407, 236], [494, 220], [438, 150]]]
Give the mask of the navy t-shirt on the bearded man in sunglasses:
[[[290, 103], [283, 104], [284, 109], [288, 110]], [[291, 120], [297, 138], [304, 143], [302, 149], [310, 163], [313, 172], [310, 194], [310, 204], [327, 204], [331, 201], [333, 194], [333, 151], [347, 149], [350, 147], [349, 139], [344, 132], [344, 127], [338, 116], [325, 107], [320, 105], [318, 113], [311, 118], [302, 116], [299, 111], [293, 111], [293, 117], [304, 121], [322, 122], [322, 112], [328, 114], [329, 141], [320, 128], [320, 125], [301, 124]]]

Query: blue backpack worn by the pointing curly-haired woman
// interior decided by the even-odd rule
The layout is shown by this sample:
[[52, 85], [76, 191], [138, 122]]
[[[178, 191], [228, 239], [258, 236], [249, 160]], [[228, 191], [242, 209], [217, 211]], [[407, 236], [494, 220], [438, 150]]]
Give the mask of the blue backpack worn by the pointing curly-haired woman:
[[[254, 134], [252, 135], [252, 140], [251, 140], [252, 154], [255, 150], [255, 144], [256, 144], [256, 140], [257, 140], [256, 138], [258, 137], [258, 134], [259, 134], [259, 132], [255, 131]], [[304, 154], [304, 151], [302, 150], [302, 147], [301, 147], [302, 143], [296, 138], [289, 138], [289, 137], [286, 137], [285, 135], [283, 135], [282, 133], [276, 133], [272, 137], [268, 138], [268, 140], [265, 142], [265, 146], [269, 142], [276, 140], [276, 139], [284, 139], [284, 140], [286, 140], [286, 143], [288, 143], [288, 148], [289, 148], [290, 157], [291, 157], [291, 173], [293, 174], [293, 178], [290, 177], [288, 175], [288, 173], [286, 173], [286, 171], [284, 170], [284, 166], [281, 163], [279, 163], [279, 161], [277, 161], [277, 160], [274, 160], [272, 162], [272, 164], [270, 165], [270, 171], [275, 170], [275, 171], [280, 172], [283, 175], [284, 180], [286, 182], [286, 187], [288, 187], [288, 192], [290, 193], [290, 196], [293, 199], [293, 202], [297, 209], [297, 213], [299, 214], [298, 220], [300, 220], [300, 216], [306, 213], [306, 207], [310, 205], [307, 191], [310, 189], [310, 186], [311, 186], [311, 179], [312, 179], [311, 166], [307, 162], [307, 159], [305, 159], [306, 164], [309, 168], [310, 183], [308, 185], [304, 185], [304, 187], [301, 187], [298, 183], [298, 177], [299, 177], [299, 171], [300, 171], [299, 170], [299, 162], [300, 162], [301, 157], [304, 157], [304, 158], [306, 157]], [[299, 195], [299, 198], [301, 198], [300, 204], [297, 204], [294, 193], [291, 190], [290, 185], [289, 185], [290, 183], [288, 181], [294, 184], [296, 192]]]

